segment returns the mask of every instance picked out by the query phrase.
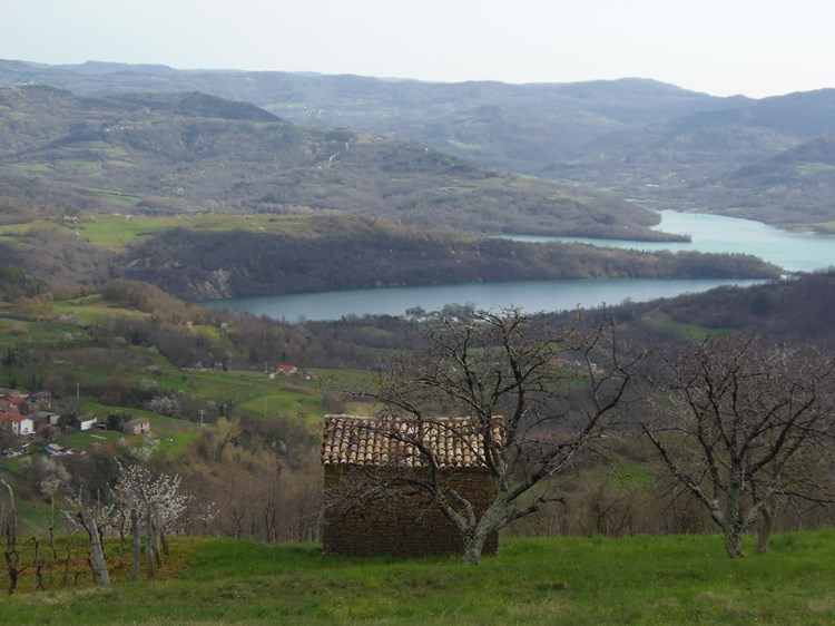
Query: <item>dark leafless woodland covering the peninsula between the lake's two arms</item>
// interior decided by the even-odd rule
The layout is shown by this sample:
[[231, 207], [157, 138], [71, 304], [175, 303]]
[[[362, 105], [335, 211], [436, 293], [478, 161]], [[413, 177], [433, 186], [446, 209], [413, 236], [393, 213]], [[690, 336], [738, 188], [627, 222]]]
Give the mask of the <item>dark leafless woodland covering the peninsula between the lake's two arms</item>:
[[482, 281], [779, 275], [748, 255], [530, 244], [342, 219], [314, 237], [178, 228], [131, 248], [116, 267], [114, 274], [187, 300]]

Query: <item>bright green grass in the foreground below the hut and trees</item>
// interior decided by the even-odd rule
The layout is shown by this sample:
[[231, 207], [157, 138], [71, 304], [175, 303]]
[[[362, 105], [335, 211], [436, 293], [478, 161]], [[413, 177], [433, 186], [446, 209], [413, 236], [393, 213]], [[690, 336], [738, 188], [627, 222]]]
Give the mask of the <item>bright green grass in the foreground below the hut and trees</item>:
[[737, 561], [717, 536], [508, 539], [478, 567], [226, 539], [173, 548], [167, 580], [4, 597], [0, 623], [835, 623], [835, 530], [780, 535]]

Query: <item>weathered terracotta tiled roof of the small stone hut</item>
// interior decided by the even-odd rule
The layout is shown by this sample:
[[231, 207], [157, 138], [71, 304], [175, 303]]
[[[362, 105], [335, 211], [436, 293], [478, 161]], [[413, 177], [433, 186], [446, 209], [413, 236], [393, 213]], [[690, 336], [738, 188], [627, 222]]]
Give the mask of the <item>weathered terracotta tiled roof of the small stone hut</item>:
[[[493, 418], [492, 437], [502, 440], [502, 420]], [[322, 438], [323, 464], [422, 467], [415, 443], [429, 448], [440, 467], [474, 468], [484, 463], [484, 442], [470, 418], [362, 418], [326, 415]]]

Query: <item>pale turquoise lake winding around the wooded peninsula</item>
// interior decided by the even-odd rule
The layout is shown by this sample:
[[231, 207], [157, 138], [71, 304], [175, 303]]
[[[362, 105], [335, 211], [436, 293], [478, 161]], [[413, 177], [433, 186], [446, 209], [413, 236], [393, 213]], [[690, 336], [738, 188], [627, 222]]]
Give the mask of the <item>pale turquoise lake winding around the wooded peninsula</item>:
[[[828, 267], [835, 260], [835, 236], [780, 231], [750, 219], [717, 215], [660, 212], [658, 228], [688, 234], [690, 243], [647, 243], [566, 237], [513, 237], [520, 241], [563, 241], [645, 251], [700, 251], [754, 254], [788, 271]], [[217, 300], [203, 304], [232, 311], [267, 315], [276, 320], [338, 320], [346, 315], [402, 315], [422, 306], [436, 311], [444, 304], [472, 303], [479, 309], [520, 306], [528, 313], [566, 311], [582, 306], [620, 304], [626, 300], [646, 302], [698, 293], [727, 284], [757, 281], [679, 278], [595, 278], [571, 281], [517, 281], [510, 283], [466, 283], [441, 286], [380, 287], [324, 293]]]

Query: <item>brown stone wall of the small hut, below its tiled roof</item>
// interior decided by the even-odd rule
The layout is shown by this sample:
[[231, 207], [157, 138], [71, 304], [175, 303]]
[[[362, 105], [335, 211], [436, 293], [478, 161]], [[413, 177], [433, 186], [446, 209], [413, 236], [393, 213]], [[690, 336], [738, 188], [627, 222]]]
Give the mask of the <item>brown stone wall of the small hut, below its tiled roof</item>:
[[[325, 552], [352, 556], [428, 556], [462, 554], [461, 534], [424, 492], [400, 488], [384, 497], [356, 502], [357, 485], [379, 468], [325, 466], [325, 513], [322, 544]], [[450, 483], [481, 512], [495, 497], [485, 468], [450, 470]], [[347, 487], [346, 487], [347, 486]], [[484, 546], [495, 554], [498, 534]]]

